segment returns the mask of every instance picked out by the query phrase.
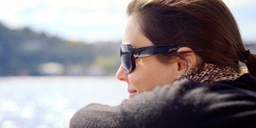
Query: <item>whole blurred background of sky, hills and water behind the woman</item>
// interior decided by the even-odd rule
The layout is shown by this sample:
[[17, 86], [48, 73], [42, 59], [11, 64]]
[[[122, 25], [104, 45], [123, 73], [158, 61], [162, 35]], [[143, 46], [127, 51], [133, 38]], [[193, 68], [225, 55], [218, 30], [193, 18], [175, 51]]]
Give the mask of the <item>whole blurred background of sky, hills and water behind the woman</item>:
[[[90, 103], [128, 99], [115, 73], [129, 1], [2, 1], [0, 128], [68, 128]], [[223, 1], [256, 46], [256, 0]]]

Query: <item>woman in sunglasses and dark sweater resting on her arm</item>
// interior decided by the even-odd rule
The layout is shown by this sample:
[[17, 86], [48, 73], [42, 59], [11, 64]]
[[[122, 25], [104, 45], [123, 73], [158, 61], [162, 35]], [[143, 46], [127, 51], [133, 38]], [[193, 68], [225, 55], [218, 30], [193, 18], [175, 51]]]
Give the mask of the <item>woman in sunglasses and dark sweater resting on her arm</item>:
[[256, 127], [256, 55], [221, 0], [132, 0], [127, 13], [116, 77], [130, 99], [89, 104], [70, 127]]

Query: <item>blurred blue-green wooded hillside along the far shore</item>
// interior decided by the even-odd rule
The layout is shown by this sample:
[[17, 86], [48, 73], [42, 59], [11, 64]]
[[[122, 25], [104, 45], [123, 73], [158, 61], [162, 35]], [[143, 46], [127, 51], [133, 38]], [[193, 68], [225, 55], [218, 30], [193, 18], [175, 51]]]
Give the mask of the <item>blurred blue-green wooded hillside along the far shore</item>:
[[72, 42], [0, 23], [0, 75], [115, 75], [120, 44]]

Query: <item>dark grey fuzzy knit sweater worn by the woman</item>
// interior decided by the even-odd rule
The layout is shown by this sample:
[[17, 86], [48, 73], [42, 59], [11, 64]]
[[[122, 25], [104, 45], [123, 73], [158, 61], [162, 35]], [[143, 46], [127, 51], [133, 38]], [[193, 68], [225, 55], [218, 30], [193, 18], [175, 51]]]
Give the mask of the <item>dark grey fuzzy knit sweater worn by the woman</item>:
[[70, 127], [254, 128], [256, 79], [249, 73], [212, 84], [183, 79], [118, 106], [89, 104], [75, 113]]

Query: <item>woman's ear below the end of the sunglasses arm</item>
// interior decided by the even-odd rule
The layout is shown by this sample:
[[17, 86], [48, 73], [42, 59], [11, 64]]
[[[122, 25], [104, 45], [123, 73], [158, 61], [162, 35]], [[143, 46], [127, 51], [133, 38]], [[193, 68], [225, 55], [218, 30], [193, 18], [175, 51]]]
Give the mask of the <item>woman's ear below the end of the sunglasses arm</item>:
[[[188, 48], [188, 47], [182, 47], [180, 49], [178, 49], [177, 52], [181, 52], [181, 51], [192, 51], [192, 49]], [[192, 51], [190, 53], [186, 53], [183, 54], [182, 56], [185, 56], [184, 58], [187, 60], [187, 62], [185, 60], [182, 60], [180, 57], [179, 59], [177, 59], [177, 72], [179, 75], [182, 75], [183, 73], [185, 73], [185, 71], [196, 66], [196, 62], [197, 62], [197, 58], [195, 53]]]

